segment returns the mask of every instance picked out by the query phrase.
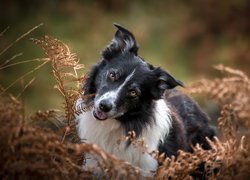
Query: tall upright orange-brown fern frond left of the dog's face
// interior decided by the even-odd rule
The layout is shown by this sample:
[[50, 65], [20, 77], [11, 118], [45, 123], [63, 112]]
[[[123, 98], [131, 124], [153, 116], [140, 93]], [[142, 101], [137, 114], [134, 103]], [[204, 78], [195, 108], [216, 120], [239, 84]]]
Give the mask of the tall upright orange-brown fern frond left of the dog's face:
[[[57, 82], [55, 88], [65, 100], [65, 116], [68, 121], [66, 130], [74, 129], [74, 102], [80, 92], [79, 82], [82, 81], [77, 70], [82, 69], [83, 65], [79, 64], [79, 59], [71, 53], [69, 47], [57, 39], [45, 36], [41, 39], [32, 39], [32, 41], [41, 47], [51, 60], [53, 75]], [[75, 85], [77, 87], [73, 87]]]

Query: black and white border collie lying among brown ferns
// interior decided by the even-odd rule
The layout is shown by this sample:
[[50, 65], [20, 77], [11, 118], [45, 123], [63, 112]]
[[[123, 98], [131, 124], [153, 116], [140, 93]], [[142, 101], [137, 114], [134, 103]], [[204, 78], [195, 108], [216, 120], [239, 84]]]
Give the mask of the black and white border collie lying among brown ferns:
[[155, 171], [158, 162], [131, 143], [117, 143], [130, 131], [144, 139], [148, 151], [166, 156], [176, 156], [179, 149], [190, 152], [196, 143], [208, 149], [205, 137], [215, 135], [208, 116], [173, 89], [183, 86], [181, 81], [138, 55], [131, 32], [115, 26], [113, 40], [83, 85], [83, 97], [90, 98], [76, 102], [80, 109], [90, 107], [76, 115], [80, 138], [145, 171]]

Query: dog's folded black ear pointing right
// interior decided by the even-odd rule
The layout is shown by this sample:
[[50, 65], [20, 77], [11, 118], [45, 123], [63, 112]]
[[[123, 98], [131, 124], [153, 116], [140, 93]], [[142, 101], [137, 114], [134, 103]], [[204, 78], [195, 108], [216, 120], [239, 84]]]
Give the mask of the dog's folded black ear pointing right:
[[160, 99], [167, 89], [173, 89], [176, 86], [184, 87], [184, 84], [175, 79], [171, 74], [156, 68], [153, 70], [154, 74], [154, 85], [152, 86], [152, 95], [154, 99]]

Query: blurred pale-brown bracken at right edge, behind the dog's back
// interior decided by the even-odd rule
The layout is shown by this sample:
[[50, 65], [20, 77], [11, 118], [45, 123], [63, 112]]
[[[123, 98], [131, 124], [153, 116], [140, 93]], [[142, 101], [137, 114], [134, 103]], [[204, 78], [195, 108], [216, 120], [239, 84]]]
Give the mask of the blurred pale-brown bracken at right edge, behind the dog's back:
[[205, 93], [220, 104], [230, 104], [245, 127], [250, 128], [250, 80], [239, 70], [219, 65], [216, 69], [228, 73], [228, 77], [203, 79], [187, 89], [188, 93]]

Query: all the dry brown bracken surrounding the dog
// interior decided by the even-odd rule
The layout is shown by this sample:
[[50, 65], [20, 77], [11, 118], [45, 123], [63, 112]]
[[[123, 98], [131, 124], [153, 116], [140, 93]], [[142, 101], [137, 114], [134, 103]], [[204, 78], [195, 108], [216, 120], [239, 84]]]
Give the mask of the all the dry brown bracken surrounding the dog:
[[[74, 101], [80, 96], [84, 78], [79, 78], [76, 69], [78, 60], [69, 48], [59, 40], [44, 37], [33, 40], [42, 47], [52, 63], [56, 88], [65, 99], [65, 112], [56, 110], [37, 112], [33, 121], [58, 122], [59, 131], [51, 131], [27, 124], [23, 117], [23, 105], [5, 90], [1, 90], [0, 101], [0, 178], [1, 179], [79, 179], [96, 177], [94, 170], [84, 170], [84, 153], [95, 154], [100, 161], [98, 168], [107, 179], [138, 179], [139, 168], [116, 159], [96, 145], [77, 144], [64, 141], [74, 134]], [[199, 145], [193, 153], [180, 151], [177, 158], [164, 159], [157, 152], [147, 152], [143, 140], [134, 140], [134, 133], [124, 140], [142, 147], [145, 153], [157, 158], [162, 166], [154, 178], [192, 179], [199, 164], [204, 163], [203, 177], [206, 179], [247, 179], [250, 175], [250, 81], [241, 71], [217, 66], [227, 77], [201, 80], [189, 87], [187, 93], [205, 93], [221, 104], [219, 128], [224, 140], [209, 141], [212, 149], [205, 151]], [[72, 84], [73, 82], [73, 84]], [[72, 86], [73, 85], [73, 86]], [[75, 86], [74, 86], [75, 85]], [[61, 122], [66, 125], [62, 125]]]

